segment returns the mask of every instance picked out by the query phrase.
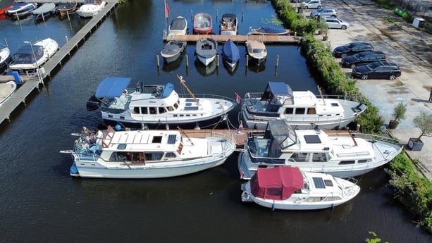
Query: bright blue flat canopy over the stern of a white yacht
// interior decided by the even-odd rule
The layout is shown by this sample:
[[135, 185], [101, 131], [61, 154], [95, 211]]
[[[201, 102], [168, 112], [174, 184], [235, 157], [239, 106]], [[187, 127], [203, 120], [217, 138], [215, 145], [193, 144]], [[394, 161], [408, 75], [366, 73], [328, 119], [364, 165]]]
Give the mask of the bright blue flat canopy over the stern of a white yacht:
[[114, 98], [119, 97], [128, 87], [129, 77], [106, 77], [96, 89], [97, 98]]

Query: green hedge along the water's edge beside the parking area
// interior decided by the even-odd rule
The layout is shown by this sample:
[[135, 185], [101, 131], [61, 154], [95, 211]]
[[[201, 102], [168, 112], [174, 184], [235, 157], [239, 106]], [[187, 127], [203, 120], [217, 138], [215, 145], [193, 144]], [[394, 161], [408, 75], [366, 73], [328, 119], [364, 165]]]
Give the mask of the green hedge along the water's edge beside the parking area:
[[[302, 51], [311, 68], [317, 70], [318, 82], [331, 94], [352, 96], [366, 104], [367, 109], [356, 122], [362, 132], [382, 133], [383, 119], [378, 108], [363, 96], [352, 80], [342, 72], [331, 54], [331, 46], [316, 39], [314, 34], [319, 30], [316, 20], [308, 20], [297, 14], [297, 9], [286, 0], [271, 0], [273, 8], [285, 27], [302, 37]], [[432, 233], [432, 182], [417, 169], [418, 160], [412, 160], [406, 153], [397, 155], [385, 172], [390, 175], [389, 184], [394, 189], [394, 198], [409, 211], [409, 214], [426, 232]]]

